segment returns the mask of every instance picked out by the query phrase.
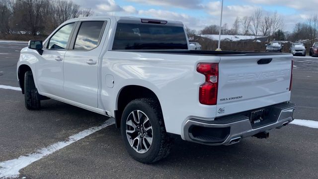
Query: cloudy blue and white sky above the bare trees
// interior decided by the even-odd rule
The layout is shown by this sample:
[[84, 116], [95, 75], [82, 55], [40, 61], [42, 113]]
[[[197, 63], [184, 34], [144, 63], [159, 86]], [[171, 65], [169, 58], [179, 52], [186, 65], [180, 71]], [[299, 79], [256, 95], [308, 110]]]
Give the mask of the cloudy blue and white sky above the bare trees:
[[[218, 0], [74, 0], [91, 8], [94, 16], [119, 15], [152, 17], [182, 21], [201, 30], [220, 23], [221, 1]], [[236, 16], [249, 16], [256, 8], [264, 13], [277, 11], [284, 19], [284, 30], [292, 31], [297, 22], [318, 13], [318, 0], [224, 0], [223, 24], [232, 26]]]

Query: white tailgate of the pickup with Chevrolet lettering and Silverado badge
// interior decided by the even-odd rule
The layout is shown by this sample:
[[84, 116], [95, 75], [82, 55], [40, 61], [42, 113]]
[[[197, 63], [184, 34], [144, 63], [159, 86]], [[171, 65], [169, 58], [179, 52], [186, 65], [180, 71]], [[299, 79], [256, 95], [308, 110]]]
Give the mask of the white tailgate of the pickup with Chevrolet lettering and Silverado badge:
[[221, 56], [217, 116], [290, 100], [292, 58]]

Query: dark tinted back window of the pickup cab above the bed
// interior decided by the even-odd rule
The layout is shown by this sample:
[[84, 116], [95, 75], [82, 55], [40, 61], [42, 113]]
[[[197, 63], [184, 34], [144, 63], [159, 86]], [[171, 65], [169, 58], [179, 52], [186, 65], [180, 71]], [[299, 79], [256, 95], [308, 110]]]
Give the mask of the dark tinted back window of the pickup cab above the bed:
[[113, 50], [187, 50], [183, 27], [162, 24], [117, 23]]

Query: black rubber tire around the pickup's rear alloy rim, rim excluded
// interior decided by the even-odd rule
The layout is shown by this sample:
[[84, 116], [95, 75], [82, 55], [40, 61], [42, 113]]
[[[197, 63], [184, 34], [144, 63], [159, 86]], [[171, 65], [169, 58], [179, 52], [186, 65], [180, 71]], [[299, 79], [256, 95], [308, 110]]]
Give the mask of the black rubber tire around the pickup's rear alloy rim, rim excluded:
[[[141, 127], [144, 127], [143, 130], [146, 131], [146, 134], [144, 136], [144, 138], [146, 138], [146, 136], [150, 136], [152, 135], [152, 144], [150, 146], [148, 146], [148, 149], [146, 150], [146, 148], [144, 147], [144, 153], [140, 153], [137, 152], [138, 148], [135, 149], [132, 147], [132, 145], [134, 145], [135, 141], [133, 140], [133, 137], [131, 135], [126, 134], [126, 129], [130, 130], [129, 128], [131, 128], [132, 126], [127, 125], [126, 122], [129, 121], [129, 117], [131, 117], [131, 114], [133, 112], [138, 113], [138, 111], [142, 111], [143, 117], [145, 117], [146, 119], [149, 119], [150, 121], [150, 125], [152, 126], [151, 132], [150, 131], [146, 131], [146, 124], [145, 122], [143, 123], [144, 126], [141, 125]], [[136, 114], [136, 113], [134, 113]], [[139, 114], [139, 113], [138, 113]], [[136, 115], [135, 115], [136, 116]], [[142, 117], [139, 117], [139, 123], [135, 123], [137, 125], [135, 125], [135, 127], [133, 127], [133, 131], [138, 131], [138, 135], [143, 131], [141, 131], [140, 129], [137, 129], [137, 126], [140, 127], [140, 121], [142, 120]], [[145, 121], [145, 119], [144, 119]], [[135, 133], [135, 132], [134, 132]], [[131, 102], [129, 102], [127, 104], [127, 106], [125, 107], [124, 111], [123, 111], [123, 115], [122, 115], [122, 119], [121, 119], [121, 134], [122, 134], [122, 138], [124, 140], [125, 143], [125, 147], [129, 153], [129, 155], [134, 158], [135, 160], [141, 162], [141, 163], [145, 163], [145, 164], [150, 164], [156, 161], [159, 161], [161, 159], [163, 159], [164, 157], [168, 156], [168, 154], [170, 153], [171, 150], [171, 138], [167, 135], [165, 127], [164, 127], [164, 122], [163, 122], [163, 116], [162, 116], [162, 112], [159, 106], [159, 103], [152, 98], [139, 98], [139, 99], [135, 99], [132, 100]], [[131, 133], [132, 134], [132, 133]], [[140, 138], [141, 137], [141, 138]], [[134, 139], [138, 138], [137, 143], [139, 144], [140, 140], [141, 141], [148, 141], [142, 138], [143, 136], [137, 136], [134, 137]], [[128, 139], [130, 138], [130, 139]], [[132, 145], [129, 142], [129, 140], [132, 140]], [[148, 143], [149, 144], [149, 143]], [[143, 146], [145, 146], [144, 144], [142, 144]], [[137, 145], [138, 146], [138, 145]]]

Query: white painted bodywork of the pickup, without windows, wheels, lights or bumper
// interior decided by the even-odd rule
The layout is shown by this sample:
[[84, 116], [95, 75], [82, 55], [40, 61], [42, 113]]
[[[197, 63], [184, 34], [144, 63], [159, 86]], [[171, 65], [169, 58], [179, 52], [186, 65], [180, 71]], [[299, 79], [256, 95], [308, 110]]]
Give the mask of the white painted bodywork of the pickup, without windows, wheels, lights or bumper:
[[[129, 19], [130, 17], [125, 17]], [[67, 51], [60, 63], [56, 54], [24, 48], [17, 67], [28, 65], [36, 81], [39, 93], [97, 113], [114, 117], [118, 94], [129, 85], [148, 88], [157, 95], [167, 132], [183, 136], [183, 126], [190, 118], [214, 120], [215, 117], [271, 105], [290, 99], [289, 87], [292, 55], [273, 55], [272, 64], [258, 67], [259, 56], [207, 56], [145, 52], [112, 51], [114, 32], [119, 17], [96, 17], [84, 20], [108, 20], [100, 45], [88, 52]], [[82, 19], [73, 19], [65, 23]], [[65, 24], [64, 23], [64, 24]], [[179, 22], [175, 22], [179, 23]], [[62, 25], [64, 25], [62, 24]], [[62, 26], [61, 25], [61, 26]], [[54, 33], [54, 32], [53, 32]], [[49, 36], [50, 37], [50, 36]], [[44, 41], [45, 43], [46, 41]], [[65, 52], [65, 51], [64, 51]], [[53, 53], [53, 52], [51, 52]], [[96, 60], [88, 65], [87, 60]], [[217, 105], [199, 102], [199, 87], [205, 77], [196, 72], [198, 63], [220, 63], [219, 94]], [[256, 64], [255, 64], [256, 63]], [[63, 65], [61, 65], [63, 64]], [[63, 67], [63, 68], [62, 68]], [[250, 81], [232, 81], [231, 78], [245, 73], [277, 71], [289, 73], [282, 77]], [[232, 75], [232, 76], [231, 76]], [[61, 79], [63, 77], [63, 83]], [[268, 81], [267, 81], [268, 80]], [[230, 83], [231, 82], [231, 83]], [[63, 87], [61, 87], [63, 84]], [[220, 98], [243, 96], [241, 100], [223, 101]], [[218, 108], [226, 113], [217, 114]]]

